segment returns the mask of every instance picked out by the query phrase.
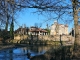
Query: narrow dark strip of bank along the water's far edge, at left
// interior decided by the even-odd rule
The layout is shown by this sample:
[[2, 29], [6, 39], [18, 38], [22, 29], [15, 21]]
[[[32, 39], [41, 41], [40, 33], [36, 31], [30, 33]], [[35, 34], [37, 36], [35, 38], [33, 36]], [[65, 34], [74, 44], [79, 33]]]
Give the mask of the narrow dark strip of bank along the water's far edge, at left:
[[32, 46], [38, 47], [38, 46], [50, 46], [50, 45], [0, 44], [0, 51], [11, 49], [11, 48], [32, 47]]

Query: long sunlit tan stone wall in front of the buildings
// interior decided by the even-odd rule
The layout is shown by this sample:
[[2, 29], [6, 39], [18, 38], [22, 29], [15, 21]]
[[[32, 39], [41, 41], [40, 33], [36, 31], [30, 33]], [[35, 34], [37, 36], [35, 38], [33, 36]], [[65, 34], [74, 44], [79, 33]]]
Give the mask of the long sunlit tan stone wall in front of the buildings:
[[25, 39], [29, 39], [29, 40], [53, 40], [53, 41], [72, 41], [74, 42], [74, 37], [72, 37], [71, 35], [55, 35], [55, 36], [52, 36], [52, 35], [39, 35], [39, 36], [33, 36], [31, 38], [31, 36], [27, 36], [27, 35], [24, 35], [24, 36], [20, 36], [20, 35], [17, 35], [14, 37], [14, 40], [25, 40]]

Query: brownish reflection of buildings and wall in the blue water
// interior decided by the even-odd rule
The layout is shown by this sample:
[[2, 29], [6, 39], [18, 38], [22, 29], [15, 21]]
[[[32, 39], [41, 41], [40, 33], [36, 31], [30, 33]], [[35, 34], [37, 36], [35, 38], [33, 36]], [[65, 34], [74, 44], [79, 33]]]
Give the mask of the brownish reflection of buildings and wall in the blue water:
[[24, 47], [21, 50], [23, 51], [23, 53], [27, 53], [27, 50], [29, 53], [37, 53], [37, 54], [43, 54], [46, 51], [48, 51], [51, 47], [50, 46], [31, 46], [31, 47]]

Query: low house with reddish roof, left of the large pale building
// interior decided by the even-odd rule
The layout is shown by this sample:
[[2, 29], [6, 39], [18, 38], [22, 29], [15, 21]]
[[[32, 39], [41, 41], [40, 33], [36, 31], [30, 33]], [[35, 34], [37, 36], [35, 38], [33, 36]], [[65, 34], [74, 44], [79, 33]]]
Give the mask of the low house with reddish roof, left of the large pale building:
[[29, 35], [48, 35], [48, 31], [42, 28], [30, 27], [30, 28], [18, 28], [15, 30], [16, 34], [29, 34]]

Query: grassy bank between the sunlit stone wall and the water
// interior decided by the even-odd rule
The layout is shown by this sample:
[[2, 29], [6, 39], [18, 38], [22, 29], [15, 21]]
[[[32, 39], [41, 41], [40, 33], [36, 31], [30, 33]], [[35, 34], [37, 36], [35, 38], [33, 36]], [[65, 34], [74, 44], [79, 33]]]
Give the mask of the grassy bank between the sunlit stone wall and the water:
[[6, 44], [2, 43], [0, 44], [0, 50], [7, 49], [7, 48], [13, 48], [13, 47], [24, 47], [24, 46], [30, 46], [30, 45], [58, 45], [58, 46], [67, 46], [72, 45], [70, 42], [63, 42], [63, 41], [53, 41], [53, 40], [7, 40], [5, 42]]

